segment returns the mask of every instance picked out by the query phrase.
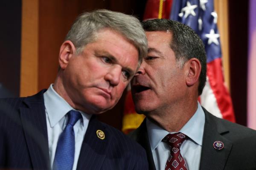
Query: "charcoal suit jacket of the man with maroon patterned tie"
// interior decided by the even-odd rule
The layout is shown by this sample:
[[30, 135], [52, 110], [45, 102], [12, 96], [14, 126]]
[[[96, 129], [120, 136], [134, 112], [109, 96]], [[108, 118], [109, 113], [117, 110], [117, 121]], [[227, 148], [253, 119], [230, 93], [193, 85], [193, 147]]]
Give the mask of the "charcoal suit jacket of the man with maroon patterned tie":
[[[206, 109], [204, 113], [200, 170], [256, 170], [256, 131], [217, 118]], [[129, 135], [145, 148], [149, 170], [155, 170], [146, 120]], [[215, 150], [215, 141], [222, 141], [224, 149]]]

